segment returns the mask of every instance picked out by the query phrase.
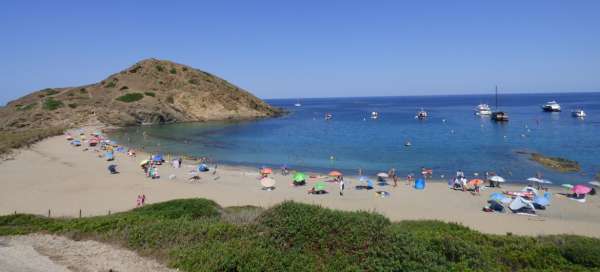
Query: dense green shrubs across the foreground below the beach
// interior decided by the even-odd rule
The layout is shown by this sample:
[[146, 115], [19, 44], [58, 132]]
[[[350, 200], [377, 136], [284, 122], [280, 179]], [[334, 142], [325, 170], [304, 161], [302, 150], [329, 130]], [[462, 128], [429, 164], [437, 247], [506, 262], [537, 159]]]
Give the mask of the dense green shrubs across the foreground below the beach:
[[593, 271], [600, 240], [489, 235], [438, 221], [284, 202], [270, 209], [173, 200], [80, 219], [0, 217], [0, 235], [119, 244], [182, 271]]

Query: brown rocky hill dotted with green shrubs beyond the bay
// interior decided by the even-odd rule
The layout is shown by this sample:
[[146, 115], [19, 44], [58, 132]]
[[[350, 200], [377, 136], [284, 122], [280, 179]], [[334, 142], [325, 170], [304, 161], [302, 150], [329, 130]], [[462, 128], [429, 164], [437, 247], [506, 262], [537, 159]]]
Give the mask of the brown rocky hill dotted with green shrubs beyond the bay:
[[0, 130], [242, 120], [272, 117], [271, 107], [239, 87], [192, 67], [147, 59], [91, 85], [49, 88], [0, 108]]

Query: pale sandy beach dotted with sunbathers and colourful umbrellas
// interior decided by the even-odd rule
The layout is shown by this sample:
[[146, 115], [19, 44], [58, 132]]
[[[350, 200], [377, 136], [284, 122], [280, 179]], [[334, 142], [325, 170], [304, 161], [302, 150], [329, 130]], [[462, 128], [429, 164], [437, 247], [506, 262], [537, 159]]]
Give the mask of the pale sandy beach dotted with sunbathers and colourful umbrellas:
[[[95, 128], [86, 128], [91, 132]], [[495, 234], [522, 235], [578, 234], [600, 237], [600, 199], [589, 196], [578, 203], [557, 193], [566, 189], [551, 188], [551, 206], [538, 211], [538, 216], [511, 213], [485, 213], [482, 207], [492, 192], [520, 190], [522, 185], [506, 185], [502, 189], [486, 188], [480, 196], [449, 190], [445, 182], [428, 182], [423, 191], [414, 190], [402, 180], [398, 187], [376, 187], [391, 196], [378, 197], [374, 191], [354, 190], [356, 178], [346, 178], [346, 191], [338, 195], [338, 186], [328, 184], [329, 194], [309, 195], [308, 186], [294, 187], [291, 176], [275, 173], [273, 191], [261, 190], [257, 169], [219, 165], [218, 171], [200, 173], [201, 180], [188, 181], [191, 165], [175, 169], [160, 167], [160, 179], [144, 176], [136, 158], [116, 152], [114, 162], [107, 162], [93, 148], [73, 147], [64, 136], [52, 137], [29, 149], [16, 152], [0, 163], [0, 214], [32, 213], [60, 217], [105, 215], [135, 208], [136, 197], [145, 194], [147, 203], [177, 198], [202, 197], [222, 206], [257, 205], [270, 207], [286, 200], [322, 205], [341, 210], [366, 210], [386, 215], [391, 220], [435, 219], [456, 222], [470, 228]], [[111, 175], [109, 164], [118, 165], [119, 174]], [[212, 165], [211, 165], [212, 166]], [[212, 169], [211, 169], [212, 170]], [[169, 176], [174, 175], [174, 179]]]

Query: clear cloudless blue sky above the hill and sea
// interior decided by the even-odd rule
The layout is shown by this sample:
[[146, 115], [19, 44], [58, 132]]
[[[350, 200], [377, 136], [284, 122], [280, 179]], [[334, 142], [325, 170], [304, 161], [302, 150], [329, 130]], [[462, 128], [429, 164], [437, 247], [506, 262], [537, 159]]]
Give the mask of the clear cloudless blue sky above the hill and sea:
[[600, 90], [600, 1], [0, 2], [0, 104], [146, 58], [261, 98]]

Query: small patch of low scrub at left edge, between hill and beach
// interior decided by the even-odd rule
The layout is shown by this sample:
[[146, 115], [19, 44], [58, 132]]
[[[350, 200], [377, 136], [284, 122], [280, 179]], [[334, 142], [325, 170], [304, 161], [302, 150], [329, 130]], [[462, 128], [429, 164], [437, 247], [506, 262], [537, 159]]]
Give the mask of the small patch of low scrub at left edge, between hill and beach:
[[9, 153], [12, 149], [27, 147], [47, 137], [60, 135], [62, 127], [28, 129], [17, 131], [0, 131], [0, 154]]

